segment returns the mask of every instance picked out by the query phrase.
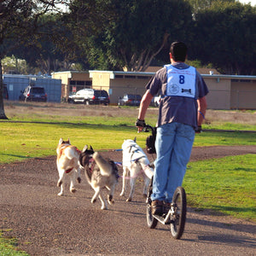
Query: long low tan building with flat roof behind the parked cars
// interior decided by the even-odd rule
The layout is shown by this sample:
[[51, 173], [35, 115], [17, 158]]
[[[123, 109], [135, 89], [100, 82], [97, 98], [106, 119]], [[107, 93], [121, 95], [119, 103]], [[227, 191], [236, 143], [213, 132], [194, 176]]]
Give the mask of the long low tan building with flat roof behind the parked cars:
[[[200, 69], [199, 69], [200, 72]], [[215, 72], [214, 72], [215, 73]], [[62, 81], [62, 98], [83, 88], [107, 90], [110, 102], [117, 104], [125, 93], [143, 96], [145, 85], [154, 72], [120, 72], [90, 70], [89, 72], [57, 72], [53, 79]], [[201, 74], [210, 93], [208, 108], [212, 109], [256, 109], [256, 76], [234, 76]]]

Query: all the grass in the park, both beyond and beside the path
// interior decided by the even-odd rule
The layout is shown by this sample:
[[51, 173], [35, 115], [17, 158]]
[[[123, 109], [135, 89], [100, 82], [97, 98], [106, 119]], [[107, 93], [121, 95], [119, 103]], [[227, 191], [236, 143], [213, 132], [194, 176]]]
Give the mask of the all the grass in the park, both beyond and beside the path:
[[[55, 155], [60, 137], [69, 137], [78, 148], [88, 144], [96, 150], [117, 149], [125, 138], [137, 137], [144, 148], [148, 134], [138, 134], [134, 127], [137, 112], [137, 108], [5, 102], [9, 120], [0, 120], [0, 163]], [[154, 125], [156, 118], [157, 109], [148, 109], [148, 124]], [[195, 137], [195, 146], [256, 145], [256, 132], [241, 132], [256, 131], [256, 112], [209, 110], [203, 129], [208, 131]], [[256, 221], [255, 166], [253, 154], [189, 163], [183, 183], [189, 206]], [[25, 255], [3, 254], [1, 246], [10, 245], [0, 240], [1, 255]]]

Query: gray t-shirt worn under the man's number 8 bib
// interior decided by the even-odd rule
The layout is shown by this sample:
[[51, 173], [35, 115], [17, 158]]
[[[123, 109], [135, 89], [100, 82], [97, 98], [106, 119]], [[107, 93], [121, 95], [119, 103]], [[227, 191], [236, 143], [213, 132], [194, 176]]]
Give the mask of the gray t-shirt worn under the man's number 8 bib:
[[[186, 69], [189, 66], [179, 62], [172, 65], [178, 69]], [[197, 126], [197, 102], [196, 99], [206, 96], [209, 90], [201, 74], [196, 71], [195, 98], [183, 96], [166, 96], [167, 74], [166, 67], [161, 68], [146, 85], [150, 94], [160, 94], [159, 119], [156, 126], [172, 122]]]

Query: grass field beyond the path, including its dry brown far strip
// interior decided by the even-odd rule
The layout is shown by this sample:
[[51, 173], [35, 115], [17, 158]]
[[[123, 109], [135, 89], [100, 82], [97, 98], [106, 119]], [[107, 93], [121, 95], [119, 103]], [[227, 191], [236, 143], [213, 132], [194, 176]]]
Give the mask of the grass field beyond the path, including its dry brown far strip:
[[[60, 137], [69, 137], [78, 148], [88, 144], [102, 150], [118, 149], [124, 139], [134, 137], [144, 148], [148, 136], [144, 132], [138, 134], [134, 126], [137, 108], [6, 102], [5, 113], [9, 121], [0, 120], [0, 162], [53, 155]], [[157, 113], [157, 108], [148, 109], [148, 124], [155, 125]], [[195, 137], [194, 146], [253, 145], [255, 133], [240, 131], [256, 131], [256, 112], [209, 110], [203, 129], [236, 132], [203, 132]]]

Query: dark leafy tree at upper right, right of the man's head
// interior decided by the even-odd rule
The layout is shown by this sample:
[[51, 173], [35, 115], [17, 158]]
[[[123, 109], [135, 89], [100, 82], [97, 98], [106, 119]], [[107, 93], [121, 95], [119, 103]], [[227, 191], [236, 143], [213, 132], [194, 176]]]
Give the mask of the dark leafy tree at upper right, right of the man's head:
[[195, 15], [194, 57], [220, 73], [256, 73], [256, 8], [216, 2]]

